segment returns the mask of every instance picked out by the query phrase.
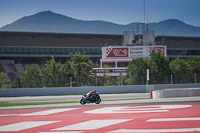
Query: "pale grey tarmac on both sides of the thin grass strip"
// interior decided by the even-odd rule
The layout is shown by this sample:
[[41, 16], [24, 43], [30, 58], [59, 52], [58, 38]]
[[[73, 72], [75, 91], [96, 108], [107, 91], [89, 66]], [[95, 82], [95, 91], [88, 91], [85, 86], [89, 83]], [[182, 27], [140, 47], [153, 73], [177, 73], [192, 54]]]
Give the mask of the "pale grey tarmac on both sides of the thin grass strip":
[[[161, 99], [137, 99], [137, 98], [149, 98], [148, 93], [144, 94], [134, 94], [135, 97], [132, 97], [133, 100], [130, 99], [128, 96], [132, 96], [133, 94], [111, 94], [117, 96], [119, 99], [110, 98], [104, 99], [103, 97], [110, 96], [110, 94], [101, 95], [102, 100], [113, 100], [113, 101], [102, 101], [100, 104], [86, 104], [81, 105], [80, 103], [64, 103], [64, 104], [44, 104], [44, 105], [27, 105], [27, 106], [11, 106], [11, 107], [0, 107], [0, 110], [7, 110], [7, 109], [32, 109], [32, 108], [55, 108], [55, 107], [73, 107], [73, 106], [99, 106], [99, 105], [121, 105], [121, 104], [159, 104], [159, 103], [181, 103], [181, 102], [200, 102], [200, 96], [195, 97], [177, 97], [177, 98], [161, 98]], [[136, 97], [137, 95], [137, 97]], [[49, 96], [52, 97], [52, 96]], [[48, 98], [49, 98], [48, 97]], [[63, 97], [63, 96], [56, 96], [56, 97]], [[67, 96], [64, 96], [67, 97]], [[78, 97], [78, 101], [80, 100], [81, 96], [69, 96], [69, 97]], [[10, 99], [23, 99], [29, 97], [15, 97]], [[38, 98], [38, 97], [34, 97]], [[44, 97], [41, 97], [44, 98]], [[7, 102], [9, 98], [7, 98]], [[11, 100], [11, 101], [12, 101]], [[1, 102], [6, 101], [5, 98], [1, 98]], [[72, 100], [73, 101], [73, 100]]]

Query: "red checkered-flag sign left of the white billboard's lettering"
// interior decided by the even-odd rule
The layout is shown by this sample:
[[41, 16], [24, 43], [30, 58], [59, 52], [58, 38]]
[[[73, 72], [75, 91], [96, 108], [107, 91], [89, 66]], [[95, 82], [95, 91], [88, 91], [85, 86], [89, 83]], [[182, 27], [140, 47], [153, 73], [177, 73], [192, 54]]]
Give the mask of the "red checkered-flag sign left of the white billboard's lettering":
[[106, 57], [128, 57], [128, 48], [106, 48]]

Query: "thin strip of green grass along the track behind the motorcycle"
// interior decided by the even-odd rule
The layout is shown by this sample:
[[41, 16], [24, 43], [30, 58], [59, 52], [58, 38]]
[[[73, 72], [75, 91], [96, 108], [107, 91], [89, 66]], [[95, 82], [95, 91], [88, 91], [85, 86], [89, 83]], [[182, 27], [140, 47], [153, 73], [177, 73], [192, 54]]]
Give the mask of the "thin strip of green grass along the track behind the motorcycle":
[[[124, 101], [124, 100], [142, 100], [142, 99], [149, 99], [149, 98], [102, 100], [102, 102], [106, 102], [106, 101]], [[64, 102], [29, 102], [29, 103], [9, 103], [9, 102], [0, 102], [0, 107], [27, 106], [27, 105], [46, 105], [46, 104], [67, 104], [67, 103], [79, 103], [79, 101], [64, 101]]]

